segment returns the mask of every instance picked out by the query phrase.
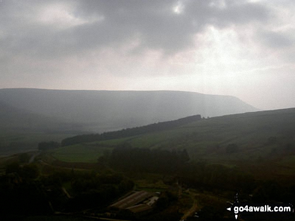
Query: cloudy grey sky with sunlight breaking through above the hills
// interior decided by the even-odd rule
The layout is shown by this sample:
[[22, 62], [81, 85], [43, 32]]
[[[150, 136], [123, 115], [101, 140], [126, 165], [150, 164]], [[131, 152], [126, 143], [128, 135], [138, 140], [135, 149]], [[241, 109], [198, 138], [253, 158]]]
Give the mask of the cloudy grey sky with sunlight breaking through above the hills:
[[177, 90], [295, 107], [293, 0], [0, 0], [0, 88]]

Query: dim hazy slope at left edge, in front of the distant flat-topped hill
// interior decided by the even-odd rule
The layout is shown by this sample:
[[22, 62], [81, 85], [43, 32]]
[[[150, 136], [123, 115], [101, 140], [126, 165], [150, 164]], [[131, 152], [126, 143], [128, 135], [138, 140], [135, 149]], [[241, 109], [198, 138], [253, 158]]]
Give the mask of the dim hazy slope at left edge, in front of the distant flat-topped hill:
[[36, 150], [41, 141], [81, 133], [81, 125], [31, 113], [0, 102], [0, 155]]

